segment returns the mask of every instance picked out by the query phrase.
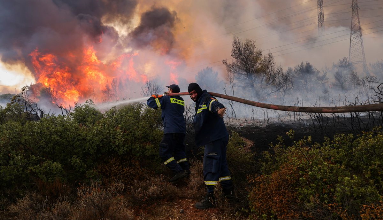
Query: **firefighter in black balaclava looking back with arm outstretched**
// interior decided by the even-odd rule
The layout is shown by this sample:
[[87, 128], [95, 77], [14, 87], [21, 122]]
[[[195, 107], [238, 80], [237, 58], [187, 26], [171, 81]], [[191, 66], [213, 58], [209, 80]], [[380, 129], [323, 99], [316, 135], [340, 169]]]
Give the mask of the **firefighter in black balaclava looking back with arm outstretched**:
[[195, 204], [197, 209], [214, 206], [214, 186], [221, 184], [228, 199], [234, 198], [233, 182], [226, 160], [229, 133], [223, 121], [226, 108], [206, 90], [192, 82], [188, 86], [190, 98], [196, 103], [193, 120], [196, 146], [204, 146], [203, 178], [206, 196]]

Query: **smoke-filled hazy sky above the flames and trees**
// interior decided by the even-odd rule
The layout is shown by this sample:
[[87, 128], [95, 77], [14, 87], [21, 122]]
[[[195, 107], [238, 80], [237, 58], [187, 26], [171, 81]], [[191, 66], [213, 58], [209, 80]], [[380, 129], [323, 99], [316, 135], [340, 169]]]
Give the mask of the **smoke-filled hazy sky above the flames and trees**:
[[[323, 2], [319, 36], [317, 0], [0, 0], [0, 92], [38, 79], [36, 48], [66, 60], [85, 41], [105, 62], [126, 51], [144, 54], [135, 69], [148, 79], [169, 78], [169, 69], [155, 71], [167, 57], [188, 81], [207, 66], [223, 76], [233, 36], [255, 40], [284, 70], [304, 61], [321, 70], [349, 55], [352, 0]], [[382, 60], [383, 0], [358, 5], [367, 63]]]

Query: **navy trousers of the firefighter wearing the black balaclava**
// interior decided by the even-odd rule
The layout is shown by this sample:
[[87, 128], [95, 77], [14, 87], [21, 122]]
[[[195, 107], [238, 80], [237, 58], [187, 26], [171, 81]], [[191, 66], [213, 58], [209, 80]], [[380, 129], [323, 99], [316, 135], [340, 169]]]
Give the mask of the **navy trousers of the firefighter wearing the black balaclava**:
[[224, 137], [205, 145], [203, 157], [203, 178], [208, 193], [213, 193], [214, 186], [221, 184], [223, 190], [231, 190], [233, 182], [226, 160], [229, 137]]

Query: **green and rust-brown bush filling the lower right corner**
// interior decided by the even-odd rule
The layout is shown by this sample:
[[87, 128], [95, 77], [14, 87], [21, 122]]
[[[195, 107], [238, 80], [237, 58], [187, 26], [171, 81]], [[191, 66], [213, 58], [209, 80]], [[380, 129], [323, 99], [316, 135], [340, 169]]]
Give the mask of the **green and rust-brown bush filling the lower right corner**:
[[273, 147], [275, 155], [265, 154], [263, 163], [270, 173], [250, 181], [254, 218], [359, 219], [380, 212], [373, 204], [383, 193], [381, 128], [360, 137], [337, 135], [323, 144], [307, 137], [291, 147]]

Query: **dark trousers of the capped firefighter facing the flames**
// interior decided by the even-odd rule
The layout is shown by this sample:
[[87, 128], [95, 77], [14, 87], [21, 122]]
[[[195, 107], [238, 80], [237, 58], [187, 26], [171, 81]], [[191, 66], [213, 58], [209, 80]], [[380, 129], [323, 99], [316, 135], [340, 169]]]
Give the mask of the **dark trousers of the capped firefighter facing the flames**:
[[189, 170], [185, 153], [185, 133], [164, 134], [160, 143], [159, 155], [162, 162], [174, 173]]

